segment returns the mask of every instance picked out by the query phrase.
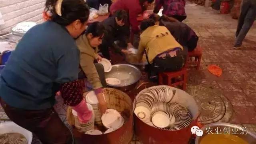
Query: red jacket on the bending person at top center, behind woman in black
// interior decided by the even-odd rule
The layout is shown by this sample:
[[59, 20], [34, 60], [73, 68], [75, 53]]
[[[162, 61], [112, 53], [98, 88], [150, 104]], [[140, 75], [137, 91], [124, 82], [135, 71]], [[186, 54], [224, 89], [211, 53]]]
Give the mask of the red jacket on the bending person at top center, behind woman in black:
[[132, 26], [132, 31], [136, 34], [139, 31], [139, 22], [137, 21], [138, 14], [142, 14], [142, 6], [139, 0], [117, 0], [110, 6], [111, 14], [116, 10], [125, 10], [129, 14], [129, 22]]

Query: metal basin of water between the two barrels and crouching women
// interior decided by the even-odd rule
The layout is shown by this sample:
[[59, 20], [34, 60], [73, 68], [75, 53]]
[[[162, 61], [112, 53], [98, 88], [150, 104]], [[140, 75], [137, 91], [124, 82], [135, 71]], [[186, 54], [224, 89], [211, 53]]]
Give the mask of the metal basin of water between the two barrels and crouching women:
[[132, 90], [141, 78], [141, 72], [136, 66], [130, 64], [115, 64], [112, 65], [110, 72], [105, 73], [106, 78], [117, 78], [121, 81], [118, 85], [108, 86], [122, 91]]

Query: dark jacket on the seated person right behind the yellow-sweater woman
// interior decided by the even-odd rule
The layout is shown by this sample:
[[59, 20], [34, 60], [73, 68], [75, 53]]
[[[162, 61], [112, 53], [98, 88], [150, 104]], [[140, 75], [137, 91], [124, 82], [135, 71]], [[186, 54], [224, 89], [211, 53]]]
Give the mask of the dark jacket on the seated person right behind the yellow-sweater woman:
[[196, 33], [186, 24], [182, 22], [168, 22], [160, 20], [160, 26], [165, 26], [172, 34], [172, 36], [182, 46], [188, 48], [188, 51], [193, 51], [198, 42]]

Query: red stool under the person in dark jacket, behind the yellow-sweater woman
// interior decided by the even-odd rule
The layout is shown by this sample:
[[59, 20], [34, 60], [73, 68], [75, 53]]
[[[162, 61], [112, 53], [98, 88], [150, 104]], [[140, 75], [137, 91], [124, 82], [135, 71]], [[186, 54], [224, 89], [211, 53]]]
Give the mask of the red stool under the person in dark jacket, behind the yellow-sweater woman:
[[[199, 70], [201, 58], [202, 58], [202, 48], [197, 46], [192, 52], [188, 52], [188, 64], [195, 64], [196, 69]], [[195, 58], [194, 61], [191, 61], [190, 58]]]

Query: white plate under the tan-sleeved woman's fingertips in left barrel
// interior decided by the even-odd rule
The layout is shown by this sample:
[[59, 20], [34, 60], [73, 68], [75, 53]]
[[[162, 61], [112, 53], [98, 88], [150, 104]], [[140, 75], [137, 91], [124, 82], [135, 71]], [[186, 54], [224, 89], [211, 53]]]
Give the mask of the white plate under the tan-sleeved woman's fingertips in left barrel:
[[106, 110], [105, 114], [101, 116], [101, 120], [106, 128], [120, 128], [123, 121], [121, 114], [114, 109]]

